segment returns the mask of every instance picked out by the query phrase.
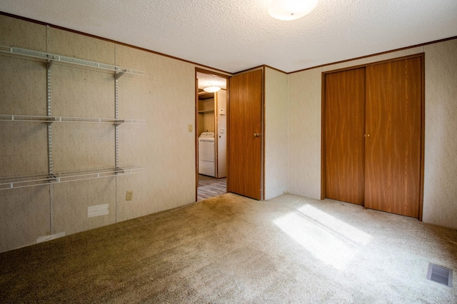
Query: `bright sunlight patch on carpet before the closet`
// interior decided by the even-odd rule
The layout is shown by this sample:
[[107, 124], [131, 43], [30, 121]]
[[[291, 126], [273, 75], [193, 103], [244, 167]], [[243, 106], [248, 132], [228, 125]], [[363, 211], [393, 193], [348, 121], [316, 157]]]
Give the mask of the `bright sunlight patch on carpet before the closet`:
[[273, 223], [314, 257], [338, 270], [346, 269], [358, 250], [371, 240], [371, 235], [310, 205]]

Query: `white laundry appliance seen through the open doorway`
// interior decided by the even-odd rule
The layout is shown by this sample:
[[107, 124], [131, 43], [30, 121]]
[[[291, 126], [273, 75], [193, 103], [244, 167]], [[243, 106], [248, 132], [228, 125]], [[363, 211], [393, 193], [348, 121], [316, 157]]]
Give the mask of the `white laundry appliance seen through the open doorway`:
[[216, 176], [214, 132], [203, 132], [199, 136], [199, 174]]

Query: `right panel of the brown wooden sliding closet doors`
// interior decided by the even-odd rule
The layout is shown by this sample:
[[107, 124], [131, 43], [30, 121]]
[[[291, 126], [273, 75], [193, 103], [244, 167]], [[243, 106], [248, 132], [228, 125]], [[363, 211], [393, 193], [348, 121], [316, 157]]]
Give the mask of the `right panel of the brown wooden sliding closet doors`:
[[366, 67], [365, 206], [418, 218], [421, 58]]

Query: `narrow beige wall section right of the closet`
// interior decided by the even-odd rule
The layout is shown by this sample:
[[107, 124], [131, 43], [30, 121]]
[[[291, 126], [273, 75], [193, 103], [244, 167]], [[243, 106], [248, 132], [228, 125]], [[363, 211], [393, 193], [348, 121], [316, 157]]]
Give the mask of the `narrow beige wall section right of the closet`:
[[423, 49], [426, 52], [423, 221], [457, 228], [457, 39]]

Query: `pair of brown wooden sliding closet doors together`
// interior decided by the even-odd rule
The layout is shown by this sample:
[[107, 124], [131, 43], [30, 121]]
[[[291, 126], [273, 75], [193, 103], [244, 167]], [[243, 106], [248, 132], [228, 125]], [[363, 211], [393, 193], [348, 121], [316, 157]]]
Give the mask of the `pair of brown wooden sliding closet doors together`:
[[325, 75], [326, 198], [419, 217], [422, 69], [418, 56]]

